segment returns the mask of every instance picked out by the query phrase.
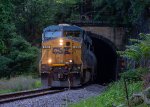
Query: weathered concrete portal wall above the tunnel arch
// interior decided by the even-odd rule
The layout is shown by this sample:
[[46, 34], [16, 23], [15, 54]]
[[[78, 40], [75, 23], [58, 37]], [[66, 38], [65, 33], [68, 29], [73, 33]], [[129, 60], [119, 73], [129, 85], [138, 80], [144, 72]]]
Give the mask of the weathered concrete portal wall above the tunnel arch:
[[120, 50], [124, 47], [125, 40], [125, 29], [123, 27], [82, 27], [86, 31], [98, 34], [115, 44], [115, 46]]

